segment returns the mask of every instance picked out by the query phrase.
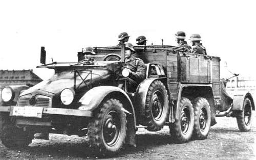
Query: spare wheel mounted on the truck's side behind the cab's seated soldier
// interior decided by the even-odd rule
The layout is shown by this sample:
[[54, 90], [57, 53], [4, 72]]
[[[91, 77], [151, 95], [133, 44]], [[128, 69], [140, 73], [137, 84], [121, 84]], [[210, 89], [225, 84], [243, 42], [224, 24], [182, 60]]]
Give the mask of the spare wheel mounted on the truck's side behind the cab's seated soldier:
[[147, 91], [145, 103], [145, 122], [147, 130], [163, 128], [169, 113], [168, 94], [161, 81], [154, 81]]

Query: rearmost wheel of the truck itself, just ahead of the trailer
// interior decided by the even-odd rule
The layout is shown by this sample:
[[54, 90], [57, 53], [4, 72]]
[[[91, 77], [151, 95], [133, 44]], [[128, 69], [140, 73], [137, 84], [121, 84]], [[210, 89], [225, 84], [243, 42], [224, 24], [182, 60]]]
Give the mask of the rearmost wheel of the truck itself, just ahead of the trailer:
[[210, 105], [205, 98], [196, 98], [193, 104], [195, 124], [193, 135], [198, 140], [206, 139], [210, 130]]

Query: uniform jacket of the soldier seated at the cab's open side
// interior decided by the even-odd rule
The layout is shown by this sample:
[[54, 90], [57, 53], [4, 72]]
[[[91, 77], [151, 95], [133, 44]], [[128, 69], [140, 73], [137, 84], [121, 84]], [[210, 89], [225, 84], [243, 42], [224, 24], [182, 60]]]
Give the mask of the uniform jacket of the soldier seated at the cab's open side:
[[126, 62], [127, 68], [129, 68], [132, 73], [130, 73], [129, 77], [134, 79], [137, 83], [140, 83], [145, 78], [145, 64], [144, 62], [135, 57], [131, 57]]

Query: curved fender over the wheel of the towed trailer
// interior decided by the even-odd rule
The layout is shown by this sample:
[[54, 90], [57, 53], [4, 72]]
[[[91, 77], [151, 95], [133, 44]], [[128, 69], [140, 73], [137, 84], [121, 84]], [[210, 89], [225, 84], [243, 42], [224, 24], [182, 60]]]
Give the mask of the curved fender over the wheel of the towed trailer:
[[252, 98], [251, 94], [248, 92], [243, 95], [240, 94], [240, 95], [233, 96], [233, 104], [232, 104], [231, 111], [242, 111], [245, 98], [250, 99], [251, 105], [252, 105], [252, 110], [255, 110], [253, 98]]

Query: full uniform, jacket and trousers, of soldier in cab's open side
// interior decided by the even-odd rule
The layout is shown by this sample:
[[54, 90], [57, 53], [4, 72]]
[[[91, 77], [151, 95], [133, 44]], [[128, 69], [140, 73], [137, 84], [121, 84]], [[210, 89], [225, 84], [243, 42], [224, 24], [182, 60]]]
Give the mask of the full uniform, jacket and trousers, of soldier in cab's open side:
[[125, 64], [126, 67], [132, 71], [127, 78], [128, 91], [135, 92], [138, 85], [145, 78], [145, 64], [141, 59], [135, 57], [131, 57]]

